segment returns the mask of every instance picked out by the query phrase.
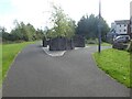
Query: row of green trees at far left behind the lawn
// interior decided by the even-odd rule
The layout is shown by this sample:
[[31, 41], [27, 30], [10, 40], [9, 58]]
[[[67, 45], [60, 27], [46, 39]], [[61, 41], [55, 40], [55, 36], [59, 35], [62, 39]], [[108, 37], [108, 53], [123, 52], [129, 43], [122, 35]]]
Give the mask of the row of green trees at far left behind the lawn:
[[0, 37], [3, 42], [18, 42], [18, 41], [35, 41], [44, 36], [42, 30], [35, 30], [30, 23], [14, 21], [15, 28], [10, 33], [6, 32], [4, 28], [0, 28]]

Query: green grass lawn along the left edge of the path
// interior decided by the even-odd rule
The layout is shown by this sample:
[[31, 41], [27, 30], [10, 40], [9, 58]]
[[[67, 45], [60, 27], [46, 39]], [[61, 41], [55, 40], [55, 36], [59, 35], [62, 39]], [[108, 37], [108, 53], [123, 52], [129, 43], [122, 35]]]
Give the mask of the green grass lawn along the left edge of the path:
[[[13, 59], [18, 55], [20, 51], [22, 51], [23, 47], [25, 47], [28, 44], [32, 44], [34, 42], [24, 42], [24, 43], [16, 43], [16, 44], [3, 44], [0, 46], [0, 51], [2, 51], [2, 55], [0, 53], [0, 56], [2, 56], [2, 77], [0, 77], [0, 82], [4, 79], [7, 76], [7, 72], [10, 68]], [[0, 68], [1, 69], [1, 68]]]

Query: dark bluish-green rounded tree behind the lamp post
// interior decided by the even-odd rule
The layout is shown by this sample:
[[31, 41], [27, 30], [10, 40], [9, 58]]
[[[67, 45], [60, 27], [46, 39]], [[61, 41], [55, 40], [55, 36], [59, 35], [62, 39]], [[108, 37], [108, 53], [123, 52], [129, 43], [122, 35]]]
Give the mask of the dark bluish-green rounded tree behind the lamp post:
[[[97, 38], [98, 37], [98, 23], [99, 18], [95, 16], [94, 14], [84, 15], [80, 21], [78, 22], [76, 33], [79, 35], [85, 36], [86, 38]], [[101, 18], [101, 37], [102, 41], [106, 41], [106, 35], [109, 32], [109, 26], [107, 22]]]

